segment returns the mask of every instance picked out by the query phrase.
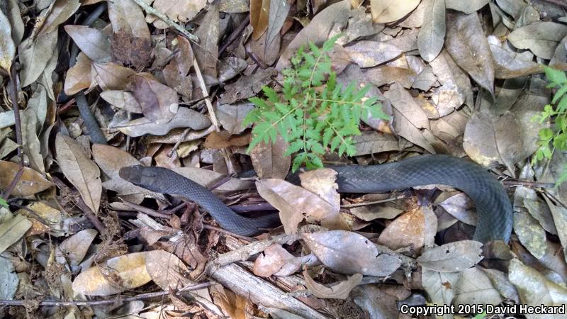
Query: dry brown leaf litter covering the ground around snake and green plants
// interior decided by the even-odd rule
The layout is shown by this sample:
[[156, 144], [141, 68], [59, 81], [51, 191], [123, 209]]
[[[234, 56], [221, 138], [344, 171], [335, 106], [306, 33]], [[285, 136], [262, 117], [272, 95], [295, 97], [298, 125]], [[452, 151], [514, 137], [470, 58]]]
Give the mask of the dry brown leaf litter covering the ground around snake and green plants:
[[[15, 306], [0, 314], [390, 318], [398, 304], [425, 300], [564, 305], [567, 193], [547, 185], [567, 161], [557, 152], [547, 165], [530, 162], [550, 125], [532, 121], [553, 93], [541, 65], [567, 69], [562, 8], [6, 1], [0, 306]], [[325, 166], [466, 156], [515, 186], [510, 246], [470, 240], [476, 211], [458, 190], [339, 194], [329, 168], [301, 173], [301, 186], [285, 181], [293, 154], [281, 138], [247, 152], [248, 99], [262, 86], [281, 91], [297, 50], [339, 33], [337, 83], [371, 86], [365, 99], [377, 97], [389, 120], [361, 123], [354, 155], [326, 152]], [[80, 95], [92, 120], [75, 107]], [[107, 145], [91, 140], [95, 128]], [[121, 179], [135, 164], [174, 169], [237, 212], [279, 212], [283, 227], [227, 233], [194, 203]], [[99, 307], [118, 294], [122, 306]]]

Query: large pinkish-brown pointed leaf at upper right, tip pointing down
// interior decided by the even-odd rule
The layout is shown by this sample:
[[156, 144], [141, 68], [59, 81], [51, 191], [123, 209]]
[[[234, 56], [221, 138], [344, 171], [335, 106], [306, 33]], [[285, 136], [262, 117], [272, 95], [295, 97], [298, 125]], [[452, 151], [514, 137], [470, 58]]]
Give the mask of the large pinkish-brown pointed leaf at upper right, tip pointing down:
[[494, 62], [476, 13], [447, 13], [446, 47], [456, 64], [494, 95]]

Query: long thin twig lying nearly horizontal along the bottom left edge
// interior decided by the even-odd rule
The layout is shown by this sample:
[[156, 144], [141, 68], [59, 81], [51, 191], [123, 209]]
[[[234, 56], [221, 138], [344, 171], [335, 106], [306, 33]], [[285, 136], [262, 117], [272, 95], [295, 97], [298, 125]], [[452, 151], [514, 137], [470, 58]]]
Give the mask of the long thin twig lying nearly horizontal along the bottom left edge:
[[[175, 294], [179, 295], [182, 291], [193, 291], [198, 289], [203, 289], [208, 286], [216, 284], [215, 281], [207, 281], [202, 284], [196, 284], [192, 286], [185, 286], [179, 289]], [[169, 291], [157, 291], [153, 293], [142, 293], [137, 296], [128, 297], [120, 299], [120, 301], [137, 301], [143, 299], [150, 299], [162, 296], [169, 296]], [[23, 306], [23, 300], [0, 300], [0, 305], [2, 306]], [[41, 301], [39, 306], [100, 306], [100, 305], [110, 305], [116, 303], [116, 299], [111, 300], [99, 300], [99, 301]]]

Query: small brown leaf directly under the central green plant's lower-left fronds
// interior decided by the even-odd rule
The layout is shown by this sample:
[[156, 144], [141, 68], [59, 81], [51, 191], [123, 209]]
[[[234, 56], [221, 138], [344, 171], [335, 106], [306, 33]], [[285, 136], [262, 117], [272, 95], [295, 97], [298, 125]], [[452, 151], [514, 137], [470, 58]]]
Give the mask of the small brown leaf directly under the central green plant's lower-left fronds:
[[283, 155], [288, 147], [278, 135], [275, 143], [260, 142], [250, 151], [252, 166], [263, 179], [285, 179], [291, 165], [291, 156]]

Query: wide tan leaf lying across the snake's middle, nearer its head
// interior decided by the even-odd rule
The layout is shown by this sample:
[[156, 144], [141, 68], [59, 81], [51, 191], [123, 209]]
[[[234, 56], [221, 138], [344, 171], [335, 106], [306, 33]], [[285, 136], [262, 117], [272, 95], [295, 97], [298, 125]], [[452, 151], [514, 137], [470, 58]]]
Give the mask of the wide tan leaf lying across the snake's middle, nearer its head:
[[257, 181], [256, 187], [262, 198], [278, 208], [281, 223], [288, 234], [296, 233], [303, 219], [329, 229], [349, 229], [335, 207], [307, 189], [281, 179]]

